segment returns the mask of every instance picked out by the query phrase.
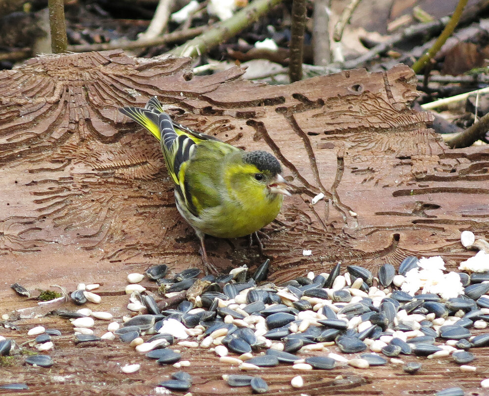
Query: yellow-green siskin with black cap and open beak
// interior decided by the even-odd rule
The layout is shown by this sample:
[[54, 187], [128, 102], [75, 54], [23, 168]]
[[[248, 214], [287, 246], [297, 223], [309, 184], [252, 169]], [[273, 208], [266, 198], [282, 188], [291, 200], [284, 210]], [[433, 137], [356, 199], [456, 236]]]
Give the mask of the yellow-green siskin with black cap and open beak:
[[[124, 107], [161, 144], [175, 201], [200, 239], [202, 260], [212, 272], [206, 234], [237, 238], [256, 233], [273, 221], [284, 195], [291, 195], [277, 159], [262, 150], [246, 152], [213, 136], [176, 124], [152, 97], [145, 108]], [[256, 236], [258, 236], [256, 234]]]

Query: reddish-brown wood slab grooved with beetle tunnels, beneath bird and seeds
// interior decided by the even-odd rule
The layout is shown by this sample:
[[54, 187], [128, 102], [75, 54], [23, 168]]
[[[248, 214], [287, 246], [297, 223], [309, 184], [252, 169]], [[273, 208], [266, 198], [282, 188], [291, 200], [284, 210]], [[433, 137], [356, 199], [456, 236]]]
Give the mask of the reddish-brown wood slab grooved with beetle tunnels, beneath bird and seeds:
[[[454, 270], [475, 253], [460, 244], [461, 231], [489, 238], [489, 149], [450, 150], [426, 127], [429, 113], [409, 107], [417, 93], [408, 67], [350, 70], [288, 86], [254, 84], [242, 74], [234, 67], [193, 76], [188, 59], [135, 59], [120, 50], [43, 56], [0, 72], [0, 314], [11, 313], [19, 329], [0, 327], [0, 335], [22, 343], [37, 324], [63, 332], [50, 352], [51, 369], [23, 365], [22, 358], [2, 369], [0, 383], [29, 384], [15, 395], [47, 386], [59, 396], [153, 395], [176, 371], [118, 341], [75, 347], [71, 325], [56, 316], [16, 320], [14, 309], [35, 302], [8, 287], [57, 284], [72, 291], [78, 282], [101, 283], [102, 304], [91, 308], [120, 319], [129, 314], [127, 273], [160, 263], [175, 272], [200, 265], [158, 142], [117, 111], [144, 106], [153, 95], [181, 124], [246, 150], [273, 152], [293, 186], [293, 197], [264, 229], [270, 240], [262, 256], [245, 238], [207, 239], [222, 269], [270, 258], [270, 279], [280, 282], [329, 272], [338, 261], [375, 274], [379, 265], [397, 267], [409, 255], [441, 255]], [[312, 205], [319, 193], [324, 199]], [[96, 334], [105, 326], [97, 321]], [[200, 348], [181, 349], [192, 361], [186, 370], [195, 375], [193, 395], [250, 394], [222, 381], [236, 367]], [[475, 373], [461, 372], [450, 358], [422, 358], [415, 376], [394, 364], [312, 372], [281, 365], [256, 374], [270, 394], [429, 395], [462, 386], [483, 395], [488, 348], [471, 352]], [[120, 364], [134, 362], [142, 364], [139, 372], [121, 372]], [[303, 375], [304, 388], [290, 386], [295, 375]]]

